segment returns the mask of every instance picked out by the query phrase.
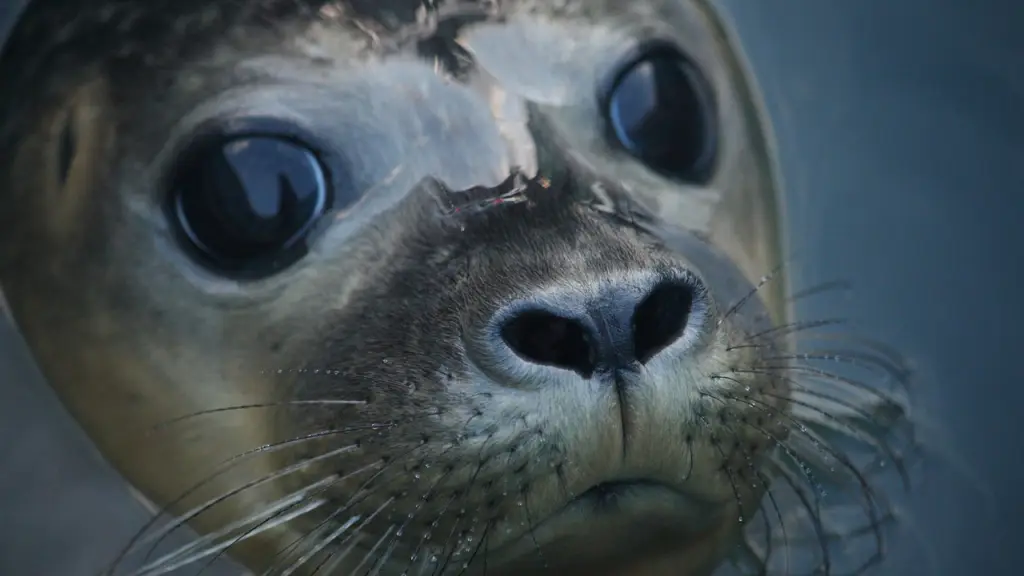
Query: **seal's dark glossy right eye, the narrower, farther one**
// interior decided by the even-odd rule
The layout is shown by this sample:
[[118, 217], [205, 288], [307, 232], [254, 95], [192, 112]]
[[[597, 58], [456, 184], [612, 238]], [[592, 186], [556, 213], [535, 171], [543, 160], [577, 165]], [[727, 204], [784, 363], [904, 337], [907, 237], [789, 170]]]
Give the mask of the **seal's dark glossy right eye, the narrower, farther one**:
[[703, 181], [715, 163], [717, 118], [711, 86], [671, 44], [642, 46], [603, 94], [612, 137], [664, 174]]

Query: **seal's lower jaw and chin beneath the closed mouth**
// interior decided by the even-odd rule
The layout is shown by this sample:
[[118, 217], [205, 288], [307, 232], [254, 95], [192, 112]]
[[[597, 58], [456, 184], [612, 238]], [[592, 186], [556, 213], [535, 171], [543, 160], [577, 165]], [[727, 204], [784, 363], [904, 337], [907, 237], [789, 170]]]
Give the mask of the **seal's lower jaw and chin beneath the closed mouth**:
[[[342, 562], [332, 565], [329, 558], [323, 562], [332, 565], [330, 574], [366, 571], [375, 559], [379, 562], [389, 553], [390, 560], [378, 565], [381, 575], [441, 570], [466, 576], [705, 576], [721, 565], [738, 541], [741, 525], [735, 522], [738, 512], [732, 502], [702, 506], [706, 516], [695, 526], [687, 522], [689, 517], [659, 507], [664, 494], [657, 489], [638, 491], [624, 497], [622, 506], [614, 509], [604, 509], [584, 495], [532, 529], [531, 523], [516, 523], [515, 530], [499, 527], [496, 532], [521, 532], [505, 543], [484, 533], [473, 544], [451, 545], [445, 550], [428, 550], [407, 542], [383, 552], [374, 546], [378, 538], [368, 535], [352, 548], [325, 550], [325, 557], [344, 556]], [[677, 506], [681, 500], [677, 499]], [[692, 502], [686, 505], [694, 506]], [[498, 540], [497, 545], [489, 540]], [[257, 573], [265, 568], [251, 567]]]

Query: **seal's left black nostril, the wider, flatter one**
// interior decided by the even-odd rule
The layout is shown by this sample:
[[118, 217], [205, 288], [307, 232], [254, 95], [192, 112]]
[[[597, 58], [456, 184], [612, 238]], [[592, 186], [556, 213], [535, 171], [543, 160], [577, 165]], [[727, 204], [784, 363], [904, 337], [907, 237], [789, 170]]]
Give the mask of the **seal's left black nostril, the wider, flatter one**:
[[505, 343], [525, 360], [573, 370], [585, 378], [594, 374], [595, 344], [575, 320], [525, 311], [506, 322], [501, 333]]

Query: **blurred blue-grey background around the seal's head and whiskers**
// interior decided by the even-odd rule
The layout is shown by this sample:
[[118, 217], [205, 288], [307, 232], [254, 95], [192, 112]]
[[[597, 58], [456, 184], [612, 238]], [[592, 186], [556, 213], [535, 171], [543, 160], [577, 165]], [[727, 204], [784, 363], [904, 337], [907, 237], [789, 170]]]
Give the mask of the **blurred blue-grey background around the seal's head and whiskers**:
[[[796, 285], [854, 286], [803, 312], [905, 353], [949, 456], [871, 574], [1021, 574], [1024, 2], [716, 3], [774, 124]], [[0, 575], [94, 574], [146, 520], [6, 324], [0, 438]]]

